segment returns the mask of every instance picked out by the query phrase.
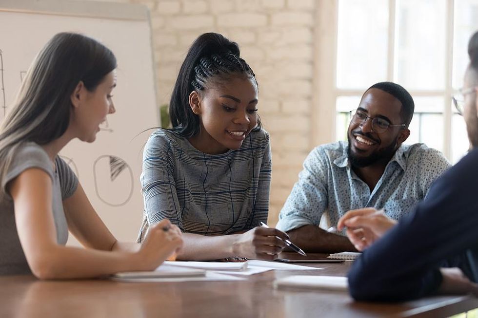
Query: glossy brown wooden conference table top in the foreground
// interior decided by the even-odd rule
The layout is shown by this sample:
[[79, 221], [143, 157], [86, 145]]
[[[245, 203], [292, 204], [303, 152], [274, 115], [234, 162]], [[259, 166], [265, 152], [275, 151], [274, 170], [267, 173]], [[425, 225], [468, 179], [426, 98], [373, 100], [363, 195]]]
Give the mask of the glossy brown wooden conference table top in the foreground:
[[[284, 253], [293, 257], [292, 253]], [[311, 254], [324, 257], [324, 254]], [[344, 276], [351, 262], [304, 264], [311, 271], [269, 271], [247, 281], [125, 283], [0, 277], [0, 317], [448, 317], [478, 307], [471, 296], [405, 303], [356, 302], [346, 292], [275, 289], [289, 275]]]

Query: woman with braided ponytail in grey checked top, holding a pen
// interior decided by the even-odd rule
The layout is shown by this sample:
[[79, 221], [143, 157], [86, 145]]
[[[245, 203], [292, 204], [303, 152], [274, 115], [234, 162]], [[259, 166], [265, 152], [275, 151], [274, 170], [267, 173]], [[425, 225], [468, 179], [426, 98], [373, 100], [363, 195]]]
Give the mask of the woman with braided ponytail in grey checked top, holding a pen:
[[169, 219], [183, 232], [178, 259], [277, 258], [288, 236], [259, 226], [267, 222], [271, 150], [257, 112], [258, 83], [238, 44], [199, 36], [171, 96], [173, 128], [153, 132], [144, 149], [139, 242]]

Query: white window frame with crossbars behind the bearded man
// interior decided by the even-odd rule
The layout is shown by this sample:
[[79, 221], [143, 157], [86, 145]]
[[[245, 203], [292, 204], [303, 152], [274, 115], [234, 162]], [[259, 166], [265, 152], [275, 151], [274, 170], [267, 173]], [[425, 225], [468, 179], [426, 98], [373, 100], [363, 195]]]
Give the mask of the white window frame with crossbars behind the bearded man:
[[[442, 97], [443, 108], [443, 154], [452, 160], [452, 107], [451, 96], [453, 89], [453, 41], [455, 0], [446, 1], [445, 17], [445, 76], [443, 89], [440, 90], [408, 90], [415, 96]], [[312, 143], [316, 145], [335, 142], [336, 138], [336, 100], [339, 96], [361, 96], [363, 90], [337, 88], [337, 49], [338, 49], [338, 20], [339, 0], [321, 0], [317, 2], [315, 51], [317, 52], [314, 67], [314, 87], [317, 92], [313, 96], [315, 107], [312, 111]], [[387, 78], [394, 81], [396, 55], [396, 0], [388, 0], [388, 43], [387, 43]], [[371, 83], [373, 84], [373, 83]], [[370, 84], [370, 85], [371, 85]], [[366, 88], [364, 88], [366, 89]], [[331, 107], [333, 105], [333, 107]], [[417, 112], [418, 113], [418, 112]]]

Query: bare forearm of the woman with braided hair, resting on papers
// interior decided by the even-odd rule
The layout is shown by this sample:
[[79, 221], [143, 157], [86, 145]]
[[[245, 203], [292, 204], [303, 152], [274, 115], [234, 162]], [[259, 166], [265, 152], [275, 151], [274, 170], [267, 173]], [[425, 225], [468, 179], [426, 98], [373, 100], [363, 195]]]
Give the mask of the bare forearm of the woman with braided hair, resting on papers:
[[205, 236], [192, 233], [183, 233], [182, 252], [177, 260], [206, 261], [218, 260], [234, 255], [234, 242], [239, 234]]

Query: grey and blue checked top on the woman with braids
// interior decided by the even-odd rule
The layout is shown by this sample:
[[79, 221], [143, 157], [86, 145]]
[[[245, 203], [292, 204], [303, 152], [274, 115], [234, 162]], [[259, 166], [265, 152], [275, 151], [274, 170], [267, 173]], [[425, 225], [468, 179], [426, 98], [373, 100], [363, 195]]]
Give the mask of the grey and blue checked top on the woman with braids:
[[167, 218], [183, 232], [224, 235], [267, 222], [271, 165], [264, 130], [238, 150], [207, 154], [159, 129], [144, 148], [140, 177], [148, 223]]

